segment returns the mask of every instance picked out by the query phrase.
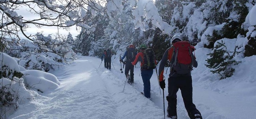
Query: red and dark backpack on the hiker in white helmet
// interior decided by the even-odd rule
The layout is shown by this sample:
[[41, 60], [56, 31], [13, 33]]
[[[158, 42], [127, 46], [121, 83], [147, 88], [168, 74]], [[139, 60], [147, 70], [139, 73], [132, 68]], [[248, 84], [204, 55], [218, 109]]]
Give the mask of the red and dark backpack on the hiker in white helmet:
[[197, 67], [196, 58], [192, 53], [192, 46], [188, 41], [178, 41], [173, 45], [170, 71], [177, 74], [187, 74]]

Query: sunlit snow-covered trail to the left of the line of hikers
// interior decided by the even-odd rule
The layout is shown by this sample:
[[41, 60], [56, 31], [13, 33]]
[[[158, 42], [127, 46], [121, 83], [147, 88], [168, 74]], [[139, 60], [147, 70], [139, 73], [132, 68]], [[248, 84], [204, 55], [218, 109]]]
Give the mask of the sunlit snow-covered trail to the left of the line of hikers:
[[[162, 119], [163, 109], [114, 75], [98, 69], [95, 57], [82, 57], [54, 71], [61, 85], [21, 106], [13, 119]], [[118, 70], [118, 69], [117, 69]], [[120, 74], [122, 75], [122, 74]], [[124, 75], [124, 74], [123, 74]], [[117, 75], [118, 76], [118, 75]]]

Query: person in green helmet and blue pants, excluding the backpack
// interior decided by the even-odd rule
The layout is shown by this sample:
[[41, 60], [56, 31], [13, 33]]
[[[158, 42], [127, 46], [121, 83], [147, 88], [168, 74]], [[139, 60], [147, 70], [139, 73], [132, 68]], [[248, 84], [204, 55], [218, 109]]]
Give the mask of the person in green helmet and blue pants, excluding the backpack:
[[[146, 98], [150, 98], [150, 79], [153, 75], [153, 69], [147, 68], [147, 58], [145, 56], [144, 51], [147, 49], [146, 45], [140, 45], [140, 52], [136, 55], [135, 60], [131, 63], [132, 65], [136, 65], [138, 61], [140, 61], [141, 66], [141, 77], [144, 85], [144, 96]], [[153, 50], [152, 50], [153, 51]], [[156, 64], [155, 56], [153, 57], [153, 62]]]

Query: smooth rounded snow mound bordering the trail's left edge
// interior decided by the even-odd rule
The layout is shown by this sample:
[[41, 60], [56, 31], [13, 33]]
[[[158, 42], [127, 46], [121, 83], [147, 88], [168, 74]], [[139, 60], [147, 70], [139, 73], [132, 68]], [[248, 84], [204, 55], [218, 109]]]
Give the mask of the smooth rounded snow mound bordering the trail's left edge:
[[40, 70], [26, 70], [21, 72], [25, 75], [24, 83], [42, 92], [56, 89], [60, 85], [57, 77], [51, 73]]

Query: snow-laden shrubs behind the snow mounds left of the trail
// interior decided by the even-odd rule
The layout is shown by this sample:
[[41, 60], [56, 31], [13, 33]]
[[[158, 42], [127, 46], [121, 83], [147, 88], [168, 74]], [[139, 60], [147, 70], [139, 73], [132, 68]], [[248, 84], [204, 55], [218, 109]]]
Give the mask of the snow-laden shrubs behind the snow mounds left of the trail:
[[77, 57], [69, 44], [62, 44], [62, 41], [53, 38], [51, 35], [44, 36], [38, 33], [36, 36], [38, 40], [48, 44], [44, 47], [47, 52], [41, 50], [39, 44], [34, 44], [27, 39], [12, 40], [12, 44], [9, 44], [10, 48], [4, 49], [4, 52], [20, 58], [19, 65], [26, 69], [37, 69], [46, 72]]

